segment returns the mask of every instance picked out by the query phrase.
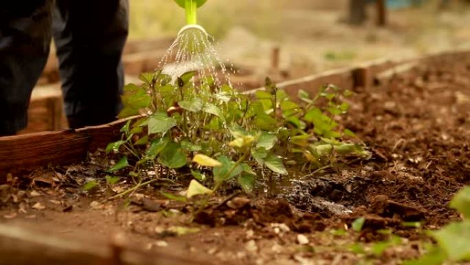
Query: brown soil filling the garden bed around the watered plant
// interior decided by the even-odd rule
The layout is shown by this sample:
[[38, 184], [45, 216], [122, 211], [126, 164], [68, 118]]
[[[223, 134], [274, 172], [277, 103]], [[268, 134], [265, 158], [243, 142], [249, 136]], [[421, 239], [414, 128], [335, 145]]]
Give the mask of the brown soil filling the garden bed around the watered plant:
[[[58, 236], [120, 231], [146, 251], [216, 264], [399, 264], [421, 253], [426, 240], [422, 228], [405, 222], [436, 229], [459, 218], [447, 204], [470, 184], [470, 57], [431, 61], [390, 83], [358, 88], [350, 103], [342, 123], [370, 148], [370, 160], [344, 160], [295, 180], [277, 198], [232, 195], [201, 208], [201, 201], [169, 202], [156, 188], [177, 193], [181, 186], [157, 183], [133, 194], [128, 207], [122, 200], [98, 204], [127, 186], [81, 191], [106, 167], [80, 165], [36, 171], [28, 181], [12, 177], [0, 190], [0, 222], [36, 224]], [[359, 217], [366, 221], [356, 233], [350, 227]], [[391, 244], [390, 234], [404, 240]], [[302, 235], [308, 243], [299, 244]], [[363, 251], [352, 251], [356, 242]], [[374, 253], [374, 242], [390, 246]]]

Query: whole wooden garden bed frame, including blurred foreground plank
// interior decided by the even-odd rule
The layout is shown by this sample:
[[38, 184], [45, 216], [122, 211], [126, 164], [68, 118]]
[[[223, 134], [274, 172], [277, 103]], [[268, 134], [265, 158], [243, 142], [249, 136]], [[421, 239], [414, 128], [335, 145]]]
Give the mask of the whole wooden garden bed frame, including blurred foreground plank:
[[[470, 56], [470, 51], [446, 52], [402, 61], [372, 61], [279, 83], [278, 87], [285, 89], [293, 98], [297, 97], [300, 89], [313, 93], [328, 83], [344, 89], [368, 88], [387, 83], [396, 74], [410, 71], [418, 65], [430, 61], [458, 60], [462, 56]], [[251, 94], [256, 90], [245, 93]], [[88, 151], [104, 148], [108, 142], [120, 137], [120, 128], [127, 120], [76, 130], [0, 138], [0, 184], [7, 181], [8, 172], [16, 174], [47, 165], [82, 161]], [[34, 264], [210, 264], [170, 253], [143, 253], [124, 246], [119, 237], [90, 244], [87, 240], [67, 240], [25, 227], [0, 224], [0, 265], [31, 264], [33, 261]]]

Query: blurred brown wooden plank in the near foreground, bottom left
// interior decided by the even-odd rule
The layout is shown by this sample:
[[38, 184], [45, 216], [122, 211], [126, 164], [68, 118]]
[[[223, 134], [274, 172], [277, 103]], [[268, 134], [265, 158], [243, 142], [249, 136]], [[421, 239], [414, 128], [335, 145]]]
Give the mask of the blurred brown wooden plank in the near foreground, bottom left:
[[[122, 237], [122, 236], [121, 236]], [[91, 240], [92, 239], [92, 240]], [[203, 265], [210, 260], [184, 257], [171, 251], [142, 251], [115, 235], [102, 240], [57, 237], [27, 225], [0, 224], [0, 265], [107, 264], [107, 265]], [[230, 264], [230, 263], [229, 263]]]

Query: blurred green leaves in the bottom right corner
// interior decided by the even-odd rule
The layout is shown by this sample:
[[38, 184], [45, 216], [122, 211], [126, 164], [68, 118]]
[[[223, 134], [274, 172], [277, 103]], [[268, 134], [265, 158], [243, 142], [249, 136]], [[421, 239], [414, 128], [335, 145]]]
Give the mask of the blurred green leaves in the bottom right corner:
[[470, 187], [459, 191], [451, 201], [450, 206], [462, 214], [462, 222], [451, 222], [438, 231], [429, 235], [436, 240], [437, 245], [427, 246], [427, 254], [417, 260], [403, 264], [456, 264], [470, 261]]

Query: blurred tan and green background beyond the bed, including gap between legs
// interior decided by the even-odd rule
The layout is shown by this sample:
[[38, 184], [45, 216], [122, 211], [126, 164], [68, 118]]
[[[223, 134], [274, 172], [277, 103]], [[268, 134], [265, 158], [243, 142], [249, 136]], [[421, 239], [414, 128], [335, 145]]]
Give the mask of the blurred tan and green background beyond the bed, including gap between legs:
[[[157, 67], [185, 23], [171, 0], [130, 0], [130, 8], [126, 83]], [[470, 50], [470, 0], [209, 0], [199, 23], [234, 65], [240, 89], [259, 87], [266, 76], [284, 81], [375, 59]], [[23, 133], [66, 126], [52, 53]]]

